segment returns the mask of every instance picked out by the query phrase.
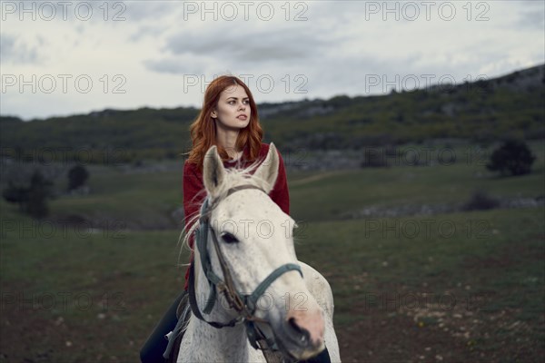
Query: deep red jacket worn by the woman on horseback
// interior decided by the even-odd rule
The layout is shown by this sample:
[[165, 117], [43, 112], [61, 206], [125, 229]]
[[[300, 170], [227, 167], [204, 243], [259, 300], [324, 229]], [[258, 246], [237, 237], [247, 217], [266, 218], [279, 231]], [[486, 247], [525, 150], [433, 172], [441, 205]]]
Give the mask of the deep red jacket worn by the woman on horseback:
[[[261, 150], [259, 151], [259, 160], [264, 160], [269, 152], [269, 145], [262, 143]], [[269, 193], [272, 201], [274, 201], [286, 214], [290, 214], [290, 194], [288, 191], [288, 181], [286, 178], [286, 171], [284, 168], [282, 155], [278, 152], [280, 163], [278, 166], [278, 177], [274, 184], [274, 188]], [[252, 164], [248, 160], [248, 150], [244, 149], [242, 156], [241, 167], [245, 168]], [[237, 166], [237, 162], [223, 162], [225, 168], [233, 168]], [[183, 212], [185, 216], [185, 231], [188, 231], [191, 227], [189, 220], [193, 215], [199, 212], [204, 198], [206, 197], [206, 191], [204, 191], [203, 185], [203, 172], [197, 169], [197, 165], [190, 162], [183, 164]], [[189, 245], [193, 249], [193, 237], [189, 240]], [[193, 263], [193, 251], [191, 252], [191, 263]], [[189, 269], [185, 271], [185, 286], [183, 289], [187, 289], [187, 280], [189, 277]]]

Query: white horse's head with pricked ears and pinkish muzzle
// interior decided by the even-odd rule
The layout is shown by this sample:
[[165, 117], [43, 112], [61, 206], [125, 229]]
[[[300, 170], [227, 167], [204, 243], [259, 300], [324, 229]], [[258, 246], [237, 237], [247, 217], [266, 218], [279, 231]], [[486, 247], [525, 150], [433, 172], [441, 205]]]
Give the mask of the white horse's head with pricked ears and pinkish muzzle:
[[323, 311], [299, 270], [292, 239], [295, 222], [268, 196], [278, 165], [272, 143], [253, 175], [249, 170], [225, 170], [215, 146], [206, 153], [203, 183], [210, 225], [206, 250], [215, 274], [222, 280], [230, 274], [232, 279], [227, 280], [232, 280], [235, 291], [253, 296], [253, 302], [243, 301], [243, 312], [227, 309], [228, 314], [246, 314], [246, 320], [272, 330], [284, 353], [306, 359], [324, 348]]

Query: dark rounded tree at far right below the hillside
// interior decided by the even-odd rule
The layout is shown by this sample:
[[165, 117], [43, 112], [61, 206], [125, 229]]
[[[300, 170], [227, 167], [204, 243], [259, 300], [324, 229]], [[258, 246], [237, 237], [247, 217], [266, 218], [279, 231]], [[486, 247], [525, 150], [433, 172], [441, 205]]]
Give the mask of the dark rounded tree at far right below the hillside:
[[531, 171], [531, 164], [536, 160], [525, 142], [507, 139], [490, 155], [486, 168], [501, 174], [522, 175]]

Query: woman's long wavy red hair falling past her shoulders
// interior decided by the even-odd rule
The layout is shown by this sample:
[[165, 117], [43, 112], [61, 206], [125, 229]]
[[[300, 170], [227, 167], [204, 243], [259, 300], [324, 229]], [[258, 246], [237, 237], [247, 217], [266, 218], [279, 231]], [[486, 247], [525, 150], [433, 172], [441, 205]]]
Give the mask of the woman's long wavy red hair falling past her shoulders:
[[199, 170], [202, 170], [203, 168], [204, 154], [213, 145], [217, 146], [220, 157], [222, 157], [223, 160], [229, 159], [229, 155], [225, 149], [217, 143], [215, 122], [211, 113], [218, 104], [220, 94], [223, 90], [233, 86], [233, 84], [238, 84], [244, 88], [244, 91], [246, 91], [246, 94], [248, 95], [251, 110], [250, 123], [239, 132], [235, 146], [238, 150], [243, 150], [244, 146], [248, 146], [248, 157], [250, 161], [254, 161], [259, 155], [263, 140], [263, 129], [259, 123], [257, 105], [253, 100], [253, 95], [248, 86], [239, 78], [233, 75], [222, 75], [214, 79], [206, 88], [203, 109], [189, 127], [193, 148], [191, 152], [189, 152], [188, 162], [196, 163]]

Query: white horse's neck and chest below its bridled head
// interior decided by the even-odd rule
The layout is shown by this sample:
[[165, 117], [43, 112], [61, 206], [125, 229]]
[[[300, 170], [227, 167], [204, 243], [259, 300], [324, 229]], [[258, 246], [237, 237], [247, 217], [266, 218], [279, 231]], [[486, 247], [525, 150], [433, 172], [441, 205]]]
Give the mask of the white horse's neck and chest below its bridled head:
[[[195, 254], [195, 277], [196, 289], [195, 295], [199, 309], [203, 311], [210, 287], [206, 280], [203, 270], [199, 263], [198, 254]], [[203, 314], [204, 319], [208, 321], [228, 322], [233, 319], [231, 315], [223, 308], [222, 299], [217, 297], [213, 310], [210, 314]], [[223, 304], [225, 301], [223, 300]], [[256, 358], [257, 352], [249, 345], [246, 338], [246, 331], [242, 324], [236, 325], [233, 328], [225, 327], [222, 329], [213, 328], [203, 320], [192, 317], [192, 321], [188, 326], [183, 339], [191, 342], [191, 348], [185, 350], [185, 354], [189, 356], [181, 357], [186, 361], [255, 361], [261, 360]]]

